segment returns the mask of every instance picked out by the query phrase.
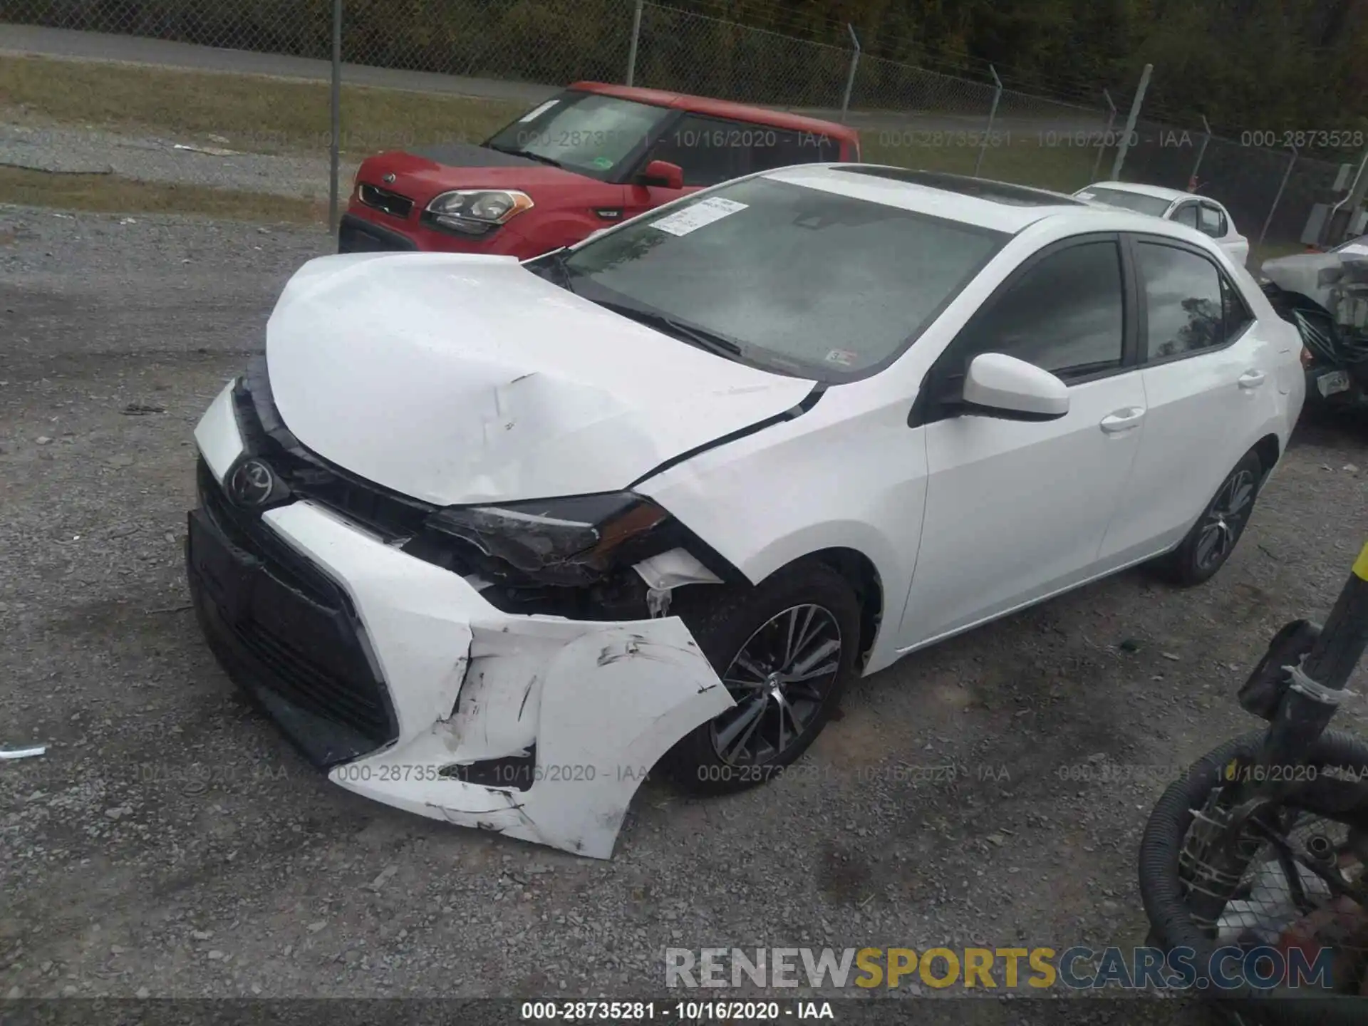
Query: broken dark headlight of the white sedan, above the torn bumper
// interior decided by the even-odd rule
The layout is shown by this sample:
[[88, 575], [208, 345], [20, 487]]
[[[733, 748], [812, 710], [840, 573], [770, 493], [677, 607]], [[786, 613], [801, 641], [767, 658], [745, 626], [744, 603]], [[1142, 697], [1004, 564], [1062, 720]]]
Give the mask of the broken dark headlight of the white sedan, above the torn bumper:
[[542, 584], [586, 586], [613, 568], [618, 550], [669, 518], [629, 491], [499, 506], [450, 506], [428, 531], [475, 546]]

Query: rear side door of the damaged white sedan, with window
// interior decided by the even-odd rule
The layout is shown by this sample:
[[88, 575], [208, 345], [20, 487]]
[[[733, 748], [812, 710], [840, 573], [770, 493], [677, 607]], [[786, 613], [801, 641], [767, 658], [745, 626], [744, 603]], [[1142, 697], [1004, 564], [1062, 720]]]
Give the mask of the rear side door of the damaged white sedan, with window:
[[1196, 245], [1126, 239], [1137, 276], [1145, 432], [1103, 560], [1176, 544], [1276, 413], [1275, 346], [1233, 278]]

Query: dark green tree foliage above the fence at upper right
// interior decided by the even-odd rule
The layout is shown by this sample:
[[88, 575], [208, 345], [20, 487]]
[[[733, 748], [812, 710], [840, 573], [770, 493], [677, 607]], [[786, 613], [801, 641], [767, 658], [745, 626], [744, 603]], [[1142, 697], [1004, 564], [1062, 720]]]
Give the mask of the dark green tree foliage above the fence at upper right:
[[[659, 0], [717, 10], [725, 0]], [[735, 0], [767, 27], [802, 11], [866, 53], [986, 75], [1097, 104], [1130, 97], [1150, 63], [1152, 108], [1218, 130], [1353, 131], [1368, 118], [1368, 0]], [[769, 11], [766, 16], [763, 12]]]

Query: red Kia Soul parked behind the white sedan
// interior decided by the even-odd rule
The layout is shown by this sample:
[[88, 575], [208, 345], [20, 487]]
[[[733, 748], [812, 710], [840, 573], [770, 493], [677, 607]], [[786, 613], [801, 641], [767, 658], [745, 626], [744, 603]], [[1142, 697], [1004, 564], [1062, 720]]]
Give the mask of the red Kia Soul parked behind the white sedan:
[[859, 159], [859, 135], [844, 124], [576, 82], [477, 145], [365, 160], [338, 252], [529, 259], [752, 171]]

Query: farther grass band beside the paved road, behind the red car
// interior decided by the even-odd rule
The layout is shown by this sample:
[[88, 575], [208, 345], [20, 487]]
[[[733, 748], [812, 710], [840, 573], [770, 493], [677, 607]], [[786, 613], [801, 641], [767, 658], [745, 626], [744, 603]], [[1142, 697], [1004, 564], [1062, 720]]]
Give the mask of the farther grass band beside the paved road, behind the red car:
[[[11, 120], [141, 129], [253, 153], [326, 153], [328, 96], [326, 82], [0, 57], [0, 109]], [[523, 111], [501, 100], [343, 85], [342, 149], [364, 156], [479, 142]]]

